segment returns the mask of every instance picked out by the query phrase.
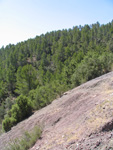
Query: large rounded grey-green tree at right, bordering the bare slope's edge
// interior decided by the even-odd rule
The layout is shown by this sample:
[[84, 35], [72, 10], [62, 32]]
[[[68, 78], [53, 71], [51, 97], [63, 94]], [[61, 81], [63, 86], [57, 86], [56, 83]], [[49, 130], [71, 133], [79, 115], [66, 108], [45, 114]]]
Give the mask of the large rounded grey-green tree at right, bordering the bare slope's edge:
[[72, 75], [73, 86], [78, 86], [111, 70], [113, 54], [105, 52], [101, 56], [89, 53]]

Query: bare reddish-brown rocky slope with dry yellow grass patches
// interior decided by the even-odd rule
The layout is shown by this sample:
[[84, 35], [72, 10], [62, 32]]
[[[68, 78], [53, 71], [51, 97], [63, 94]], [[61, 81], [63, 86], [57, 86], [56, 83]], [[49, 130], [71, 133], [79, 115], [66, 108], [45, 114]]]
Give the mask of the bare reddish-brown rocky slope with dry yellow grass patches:
[[0, 136], [0, 150], [23, 130], [43, 127], [31, 150], [113, 149], [113, 72], [64, 93]]

